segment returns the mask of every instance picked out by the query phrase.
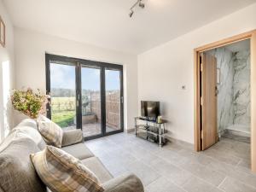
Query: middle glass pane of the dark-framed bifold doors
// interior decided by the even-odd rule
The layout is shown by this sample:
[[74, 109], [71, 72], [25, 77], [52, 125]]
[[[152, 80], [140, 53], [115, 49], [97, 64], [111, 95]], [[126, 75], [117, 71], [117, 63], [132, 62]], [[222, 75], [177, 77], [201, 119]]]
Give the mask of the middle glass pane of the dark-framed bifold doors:
[[84, 137], [102, 134], [101, 69], [82, 67], [82, 127]]

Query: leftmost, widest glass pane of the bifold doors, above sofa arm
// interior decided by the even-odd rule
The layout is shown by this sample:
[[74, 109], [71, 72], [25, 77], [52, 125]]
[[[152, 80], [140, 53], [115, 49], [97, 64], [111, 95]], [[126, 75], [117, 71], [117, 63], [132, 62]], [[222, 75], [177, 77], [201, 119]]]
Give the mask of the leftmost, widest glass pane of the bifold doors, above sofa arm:
[[76, 129], [75, 67], [50, 63], [51, 119], [63, 129]]

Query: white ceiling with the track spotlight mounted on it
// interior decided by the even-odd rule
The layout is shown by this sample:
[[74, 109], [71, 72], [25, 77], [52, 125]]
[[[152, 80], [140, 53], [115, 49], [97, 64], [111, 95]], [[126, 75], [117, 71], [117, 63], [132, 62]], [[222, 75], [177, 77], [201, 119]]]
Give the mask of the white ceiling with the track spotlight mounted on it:
[[15, 26], [139, 54], [255, 0], [3, 0]]

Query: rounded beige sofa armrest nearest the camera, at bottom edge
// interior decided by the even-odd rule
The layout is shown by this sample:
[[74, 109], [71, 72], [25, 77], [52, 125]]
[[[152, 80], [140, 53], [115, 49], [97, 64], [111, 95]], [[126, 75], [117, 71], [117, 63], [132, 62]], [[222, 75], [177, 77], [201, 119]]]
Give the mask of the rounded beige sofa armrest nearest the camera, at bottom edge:
[[102, 184], [104, 192], [143, 192], [143, 183], [134, 174], [125, 174], [114, 177]]

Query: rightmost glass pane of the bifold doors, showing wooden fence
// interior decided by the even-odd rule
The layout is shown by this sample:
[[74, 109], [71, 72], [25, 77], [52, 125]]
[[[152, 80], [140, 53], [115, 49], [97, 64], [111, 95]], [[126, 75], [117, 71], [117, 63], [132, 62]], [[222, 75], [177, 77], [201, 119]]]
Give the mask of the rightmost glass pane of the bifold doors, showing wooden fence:
[[106, 131], [118, 131], [120, 125], [120, 72], [106, 69]]

